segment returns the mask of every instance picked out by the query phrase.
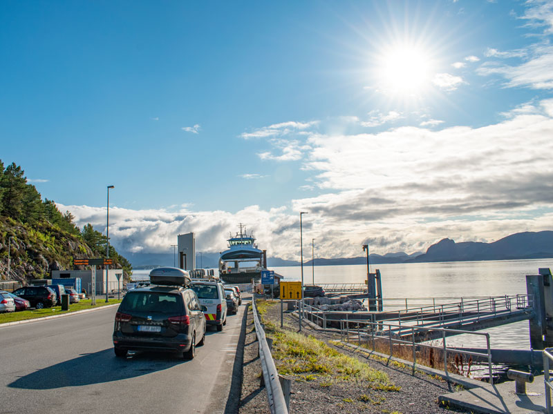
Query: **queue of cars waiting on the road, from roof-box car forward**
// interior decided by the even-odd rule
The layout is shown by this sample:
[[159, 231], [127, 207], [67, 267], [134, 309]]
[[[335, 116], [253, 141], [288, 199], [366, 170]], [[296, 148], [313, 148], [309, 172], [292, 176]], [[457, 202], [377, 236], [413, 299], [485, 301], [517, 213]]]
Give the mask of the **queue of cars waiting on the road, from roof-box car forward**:
[[193, 359], [208, 326], [221, 332], [227, 317], [238, 311], [234, 290], [218, 279], [192, 279], [186, 270], [171, 267], [153, 269], [149, 279], [149, 286], [127, 291], [115, 314], [116, 357], [156, 351]]

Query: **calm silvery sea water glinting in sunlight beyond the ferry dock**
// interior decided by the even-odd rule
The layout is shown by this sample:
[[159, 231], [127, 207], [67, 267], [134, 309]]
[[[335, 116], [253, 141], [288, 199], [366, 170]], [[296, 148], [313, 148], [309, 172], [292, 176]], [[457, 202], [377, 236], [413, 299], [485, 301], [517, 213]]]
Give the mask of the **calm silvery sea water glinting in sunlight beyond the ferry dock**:
[[[317, 263], [317, 259], [315, 259]], [[384, 299], [391, 297], [460, 297], [496, 296], [526, 293], [525, 275], [536, 275], [538, 268], [552, 268], [553, 259], [501, 260], [489, 262], [441, 262], [371, 265], [382, 275]], [[299, 266], [274, 267], [285, 280], [300, 280]], [[147, 275], [149, 270], [137, 270], [134, 275]], [[366, 265], [303, 266], [303, 282], [364, 283]], [[491, 346], [495, 348], [529, 349], [528, 322], [517, 322], [488, 329]], [[447, 339], [448, 344], [485, 346], [475, 335], [460, 335]]]

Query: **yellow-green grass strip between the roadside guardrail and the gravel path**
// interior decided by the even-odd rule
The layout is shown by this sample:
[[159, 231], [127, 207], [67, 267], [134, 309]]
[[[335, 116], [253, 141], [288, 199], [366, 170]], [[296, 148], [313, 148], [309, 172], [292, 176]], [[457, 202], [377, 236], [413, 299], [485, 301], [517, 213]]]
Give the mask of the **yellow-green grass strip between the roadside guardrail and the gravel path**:
[[281, 329], [263, 317], [268, 307], [276, 304], [256, 301], [265, 324], [265, 334], [273, 339], [272, 356], [279, 374], [293, 376], [299, 381], [320, 378], [325, 385], [329, 382], [366, 382], [367, 387], [374, 390], [400, 391], [401, 387], [393, 384], [386, 373], [336, 351], [312, 335]]

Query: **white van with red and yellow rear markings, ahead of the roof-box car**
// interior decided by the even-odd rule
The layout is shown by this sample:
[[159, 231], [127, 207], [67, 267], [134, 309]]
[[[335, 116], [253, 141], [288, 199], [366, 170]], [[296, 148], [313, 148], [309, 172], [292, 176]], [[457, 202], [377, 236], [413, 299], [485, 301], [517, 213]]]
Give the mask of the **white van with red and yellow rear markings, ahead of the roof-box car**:
[[200, 304], [207, 308], [204, 311], [207, 324], [215, 325], [219, 332], [223, 331], [223, 325], [227, 324], [227, 299], [223, 284], [193, 279], [190, 288], [196, 292]]

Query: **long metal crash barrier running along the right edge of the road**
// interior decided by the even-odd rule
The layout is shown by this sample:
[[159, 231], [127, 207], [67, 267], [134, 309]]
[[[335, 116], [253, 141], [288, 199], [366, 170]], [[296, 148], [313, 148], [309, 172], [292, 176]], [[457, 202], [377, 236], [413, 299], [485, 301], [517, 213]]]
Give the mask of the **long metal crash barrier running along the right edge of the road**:
[[279, 373], [277, 372], [277, 367], [274, 365], [271, 350], [265, 338], [265, 331], [263, 331], [263, 327], [257, 316], [255, 296], [252, 296], [252, 309], [254, 313], [255, 333], [257, 342], [259, 342], [259, 359], [261, 360], [263, 380], [265, 380], [265, 388], [267, 389], [271, 414], [288, 414], [288, 408], [286, 407], [286, 401], [279, 380]]

